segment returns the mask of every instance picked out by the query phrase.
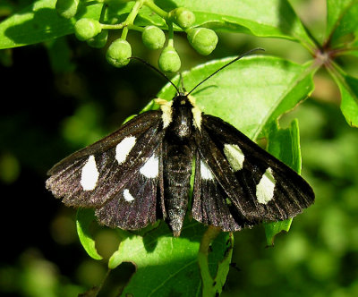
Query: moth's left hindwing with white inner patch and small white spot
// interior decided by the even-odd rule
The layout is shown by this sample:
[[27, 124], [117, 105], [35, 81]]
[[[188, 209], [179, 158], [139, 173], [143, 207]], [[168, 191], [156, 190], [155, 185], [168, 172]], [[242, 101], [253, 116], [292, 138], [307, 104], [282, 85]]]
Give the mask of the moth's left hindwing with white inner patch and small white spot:
[[96, 216], [101, 224], [125, 230], [137, 230], [162, 217], [159, 197], [163, 194], [161, 144], [141, 169], [132, 174], [124, 187], [100, 208]]

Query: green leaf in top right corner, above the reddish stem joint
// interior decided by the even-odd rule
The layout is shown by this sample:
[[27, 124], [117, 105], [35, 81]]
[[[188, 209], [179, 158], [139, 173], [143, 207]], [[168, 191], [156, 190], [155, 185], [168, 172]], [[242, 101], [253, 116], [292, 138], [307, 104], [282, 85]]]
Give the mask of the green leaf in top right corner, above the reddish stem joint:
[[331, 47], [357, 39], [358, 2], [356, 0], [327, 0], [326, 36]]

